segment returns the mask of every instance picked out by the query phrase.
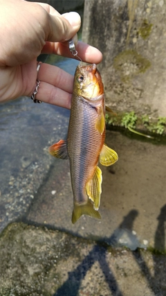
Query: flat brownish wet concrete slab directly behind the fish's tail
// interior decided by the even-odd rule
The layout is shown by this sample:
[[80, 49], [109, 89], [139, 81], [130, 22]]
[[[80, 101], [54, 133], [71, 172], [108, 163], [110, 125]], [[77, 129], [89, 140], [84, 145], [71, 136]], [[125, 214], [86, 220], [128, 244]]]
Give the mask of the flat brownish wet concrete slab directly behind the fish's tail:
[[111, 245], [165, 250], [165, 146], [107, 131], [119, 161], [103, 167], [102, 220], [84, 216], [71, 223], [73, 194], [68, 160], [55, 159], [25, 219]]

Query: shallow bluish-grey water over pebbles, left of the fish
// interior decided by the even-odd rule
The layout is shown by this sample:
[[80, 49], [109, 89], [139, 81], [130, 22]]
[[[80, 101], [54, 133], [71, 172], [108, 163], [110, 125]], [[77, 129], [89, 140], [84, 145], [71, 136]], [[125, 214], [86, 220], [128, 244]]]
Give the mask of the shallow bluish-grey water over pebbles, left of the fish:
[[[71, 59], [63, 62], [66, 71], [69, 70], [68, 60]], [[77, 61], [71, 64], [70, 72], [74, 73]], [[45, 103], [34, 104], [30, 98], [19, 98], [1, 104], [0, 112], [1, 232], [8, 223], [26, 213], [44, 183], [54, 162], [48, 154], [48, 146], [59, 137], [66, 137], [69, 111]]]

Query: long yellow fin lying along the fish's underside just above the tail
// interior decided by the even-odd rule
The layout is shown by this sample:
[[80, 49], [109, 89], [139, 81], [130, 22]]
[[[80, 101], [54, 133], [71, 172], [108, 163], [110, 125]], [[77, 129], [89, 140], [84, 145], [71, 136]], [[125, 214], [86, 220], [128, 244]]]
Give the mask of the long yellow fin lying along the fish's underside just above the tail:
[[93, 178], [86, 184], [86, 193], [94, 202], [94, 209], [98, 210], [100, 206], [100, 194], [102, 193], [102, 171], [97, 166]]

